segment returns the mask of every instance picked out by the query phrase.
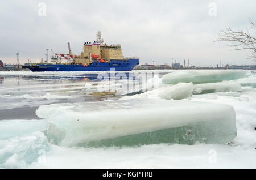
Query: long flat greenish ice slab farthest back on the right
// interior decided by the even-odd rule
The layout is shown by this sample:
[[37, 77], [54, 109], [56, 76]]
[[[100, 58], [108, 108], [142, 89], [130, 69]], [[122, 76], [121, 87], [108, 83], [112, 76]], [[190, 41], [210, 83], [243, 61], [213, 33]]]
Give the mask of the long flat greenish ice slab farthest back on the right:
[[248, 72], [246, 70], [181, 70], [164, 75], [162, 82], [164, 84], [216, 83], [222, 80], [245, 78]]

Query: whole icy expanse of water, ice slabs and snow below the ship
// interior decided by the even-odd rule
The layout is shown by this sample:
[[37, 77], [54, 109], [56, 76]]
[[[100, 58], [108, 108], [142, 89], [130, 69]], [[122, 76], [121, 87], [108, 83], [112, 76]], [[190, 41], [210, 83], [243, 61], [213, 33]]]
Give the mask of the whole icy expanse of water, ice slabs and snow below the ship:
[[0, 72], [0, 168], [256, 168], [245, 70]]

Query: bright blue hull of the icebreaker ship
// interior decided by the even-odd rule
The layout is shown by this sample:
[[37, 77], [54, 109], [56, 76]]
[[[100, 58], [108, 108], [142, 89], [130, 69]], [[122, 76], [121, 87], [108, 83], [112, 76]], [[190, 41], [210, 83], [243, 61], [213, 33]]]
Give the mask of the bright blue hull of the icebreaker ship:
[[90, 65], [39, 63], [30, 64], [27, 68], [31, 71], [131, 71], [138, 64], [139, 59], [111, 59], [110, 62], [93, 62]]

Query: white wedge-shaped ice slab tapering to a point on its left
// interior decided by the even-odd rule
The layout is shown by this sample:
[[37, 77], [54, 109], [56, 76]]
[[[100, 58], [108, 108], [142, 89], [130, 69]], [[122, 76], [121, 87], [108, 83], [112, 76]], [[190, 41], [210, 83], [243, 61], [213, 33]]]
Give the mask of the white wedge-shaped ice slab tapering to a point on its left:
[[141, 98], [164, 98], [166, 100], [181, 100], [192, 95], [192, 83], [179, 83], [176, 85], [164, 85], [158, 89], [147, 91], [133, 96], [125, 96], [119, 100], [141, 99]]

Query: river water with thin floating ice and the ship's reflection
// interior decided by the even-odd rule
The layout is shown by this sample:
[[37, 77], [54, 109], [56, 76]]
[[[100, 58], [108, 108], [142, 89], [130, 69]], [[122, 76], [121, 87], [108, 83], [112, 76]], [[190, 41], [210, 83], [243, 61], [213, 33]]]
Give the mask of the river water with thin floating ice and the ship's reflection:
[[35, 110], [41, 105], [118, 100], [127, 94], [119, 91], [122, 86], [127, 82], [139, 85], [139, 80], [137, 72], [7, 72], [0, 76], [0, 113], [4, 114], [0, 120], [38, 119]]

